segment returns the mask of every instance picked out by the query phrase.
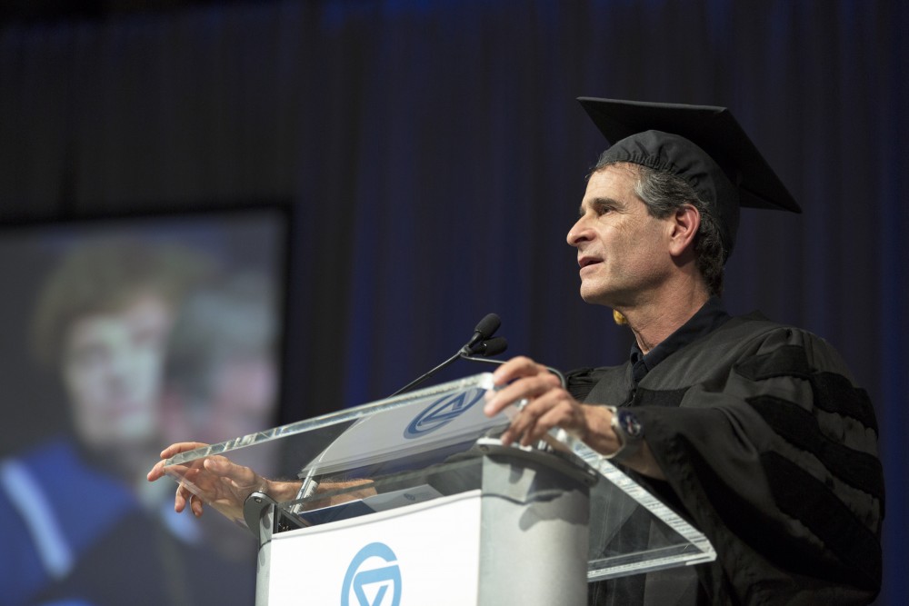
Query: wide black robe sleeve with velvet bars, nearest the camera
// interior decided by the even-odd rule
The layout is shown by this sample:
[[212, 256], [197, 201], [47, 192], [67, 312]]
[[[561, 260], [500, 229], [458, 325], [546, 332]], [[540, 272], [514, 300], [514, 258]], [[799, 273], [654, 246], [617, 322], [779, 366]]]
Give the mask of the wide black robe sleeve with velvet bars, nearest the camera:
[[884, 479], [866, 393], [833, 348], [792, 329], [729, 368], [724, 381], [688, 388], [679, 407], [637, 409], [669, 486], [719, 554], [712, 592], [744, 603], [874, 600]]

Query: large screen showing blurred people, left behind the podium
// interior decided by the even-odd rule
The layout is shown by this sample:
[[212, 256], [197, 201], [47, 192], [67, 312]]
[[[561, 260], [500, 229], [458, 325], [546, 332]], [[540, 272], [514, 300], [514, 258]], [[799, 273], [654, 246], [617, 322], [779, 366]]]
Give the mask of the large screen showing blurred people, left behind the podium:
[[252, 537], [175, 514], [145, 472], [166, 443], [275, 424], [284, 219], [0, 233], [0, 604], [253, 603]]

